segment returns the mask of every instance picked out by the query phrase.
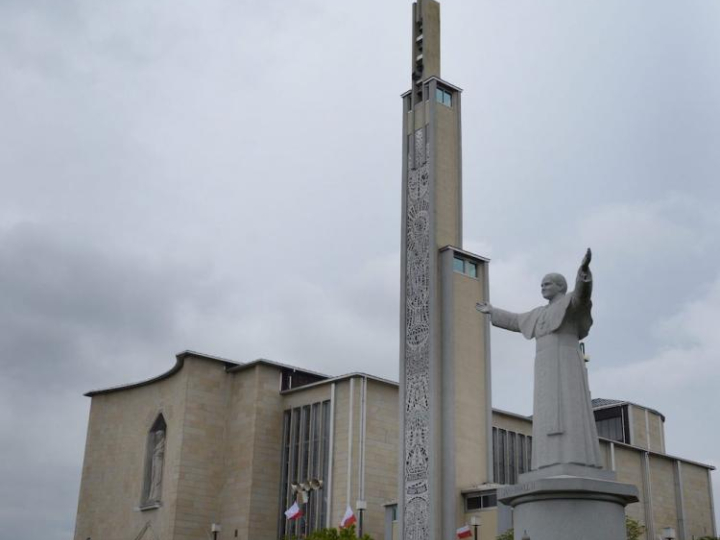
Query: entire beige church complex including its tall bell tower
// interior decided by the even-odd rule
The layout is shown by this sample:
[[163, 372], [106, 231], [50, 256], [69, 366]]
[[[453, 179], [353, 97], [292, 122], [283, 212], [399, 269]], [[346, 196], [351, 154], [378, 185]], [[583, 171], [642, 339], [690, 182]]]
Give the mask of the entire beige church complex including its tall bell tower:
[[[413, 4], [411, 39], [399, 381], [185, 351], [153, 379], [88, 392], [75, 540], [302, 538], [348, 508], [375, 540], [512, 527], [497, 494], [533, 467], [532, 418], [492, 407], [475, 310], [490, 261], [462, 247], [462, 91], [440, 76], [436, 1]], [[627, 514], [647, 540], [715, 536], [714, 468], [666, 453], [660, 412], [592, 407], [602, 465], [638, 488]]]

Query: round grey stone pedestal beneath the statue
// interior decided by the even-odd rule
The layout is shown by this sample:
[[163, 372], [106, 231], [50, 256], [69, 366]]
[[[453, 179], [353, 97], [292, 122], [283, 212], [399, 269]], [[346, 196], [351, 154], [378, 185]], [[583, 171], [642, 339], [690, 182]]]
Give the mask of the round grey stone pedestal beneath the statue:
[[515, 540], [625, 540], [625, 506], [637, 502], [637, 488], [615, 482], [612, 471], [588, 472], [594, 478], [532, 471], [501, 489]]

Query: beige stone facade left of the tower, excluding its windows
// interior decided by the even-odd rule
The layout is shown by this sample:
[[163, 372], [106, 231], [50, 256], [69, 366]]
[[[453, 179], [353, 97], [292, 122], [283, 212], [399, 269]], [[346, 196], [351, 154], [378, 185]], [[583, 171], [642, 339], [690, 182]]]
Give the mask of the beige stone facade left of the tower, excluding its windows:
[[[183, 353], [155, 380], [90, 392], [76, 540], [207, 538], [213, 523], [218, 540], [277, 538], [283, 413], [325, 401], [334, 407], [326, 525], [366, 499], [364, 530], [382, 538], [383, 504], [397, 493], [397, 385], [313, 374], [282, 389], [289, 370], [303, 373]], [[148, 430], [159, 414], [167, 425], [162, 496], [141, 509]]]

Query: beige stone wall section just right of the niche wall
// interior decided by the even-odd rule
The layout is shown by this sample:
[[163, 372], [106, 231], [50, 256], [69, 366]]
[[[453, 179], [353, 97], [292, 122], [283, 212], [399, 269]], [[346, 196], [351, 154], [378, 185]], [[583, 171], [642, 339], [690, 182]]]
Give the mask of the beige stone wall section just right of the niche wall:
[[224, 364], [197, 357], [185, 360], [187, 376], [177, 515], [173, 540], [207, 537], [221, 520], [224, 482], [225, 411], [229, 377]]

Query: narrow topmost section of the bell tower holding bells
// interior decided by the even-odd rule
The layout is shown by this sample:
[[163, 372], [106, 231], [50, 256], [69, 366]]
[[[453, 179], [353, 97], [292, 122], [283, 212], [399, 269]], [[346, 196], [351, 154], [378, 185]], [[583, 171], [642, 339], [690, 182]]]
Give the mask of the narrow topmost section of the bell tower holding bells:
[[417, 0], [413, 4], [412, 84], [418, 90], [425, 79], [440, 78], [440, 4]]

